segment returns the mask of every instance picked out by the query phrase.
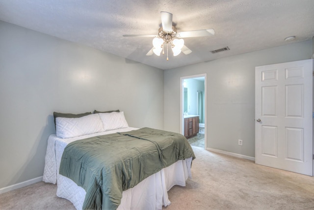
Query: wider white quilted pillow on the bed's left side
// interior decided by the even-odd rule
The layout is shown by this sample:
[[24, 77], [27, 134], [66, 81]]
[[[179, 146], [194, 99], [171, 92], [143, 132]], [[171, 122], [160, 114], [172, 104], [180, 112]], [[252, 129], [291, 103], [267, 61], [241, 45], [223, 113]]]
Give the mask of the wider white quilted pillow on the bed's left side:
[[60, 138], [72, 138], [103, 132], [103, 123], [98, 114], [80, 118], [56, 118], [56, 135]]

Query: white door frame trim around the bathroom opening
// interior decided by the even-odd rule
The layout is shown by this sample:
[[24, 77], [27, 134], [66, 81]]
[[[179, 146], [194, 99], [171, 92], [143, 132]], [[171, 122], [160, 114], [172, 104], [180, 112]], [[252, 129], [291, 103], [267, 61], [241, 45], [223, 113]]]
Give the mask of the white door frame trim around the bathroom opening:
[[186, 79], [194, 79], [197, 77], [204, 77], [204, 90], [205, 90], [205, 127], [204, 127], [204, 149], [207, 149], [207, 74], [196, 74], [191, 76], [180, 77], [180, 133], [184, 135], [184, 115], [183, 115], [183, 99], [184, 99], [184, 89], [183, 82]]

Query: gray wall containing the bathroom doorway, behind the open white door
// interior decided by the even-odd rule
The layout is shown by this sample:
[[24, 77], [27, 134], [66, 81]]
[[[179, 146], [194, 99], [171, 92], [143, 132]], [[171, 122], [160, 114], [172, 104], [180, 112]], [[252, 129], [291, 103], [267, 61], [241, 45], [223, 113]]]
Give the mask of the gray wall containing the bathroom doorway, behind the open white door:
[[180, 78], [206, 73], [207, 147], [254, 157], [255, 67], [311, 59], [312, 54], [308, 40], [165, 70], [164, 129], [180, 132]]

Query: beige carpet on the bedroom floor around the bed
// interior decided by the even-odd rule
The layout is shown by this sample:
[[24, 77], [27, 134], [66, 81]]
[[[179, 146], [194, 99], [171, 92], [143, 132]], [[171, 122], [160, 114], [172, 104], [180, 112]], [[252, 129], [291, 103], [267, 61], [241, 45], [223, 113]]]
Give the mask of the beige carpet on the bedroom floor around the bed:
[[[192, 180], [169, 190], [164, 210], [314, 210], [314, 178], [193, 147]], [[74, 210], [39, 182], [0, 194], [0, 210]]]

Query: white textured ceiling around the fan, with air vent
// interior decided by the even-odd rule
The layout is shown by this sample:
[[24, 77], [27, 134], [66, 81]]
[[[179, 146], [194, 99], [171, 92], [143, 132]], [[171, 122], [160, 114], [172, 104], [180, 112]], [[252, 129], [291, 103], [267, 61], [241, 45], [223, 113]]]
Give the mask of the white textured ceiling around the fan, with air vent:
[[[184, 38], [189, 55], [146, 56], [160, 11], [173, 14], [180, 31], [214, 29], [215, 35]], [[0, 0], [0, 20], [81, 43], [160, 69], [281, 46], [294, 35], [314, 36], [314, 0]], [[230, 51], [210, 51], [228, 46]]]

